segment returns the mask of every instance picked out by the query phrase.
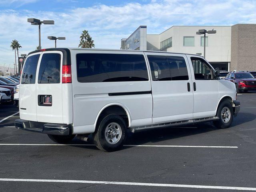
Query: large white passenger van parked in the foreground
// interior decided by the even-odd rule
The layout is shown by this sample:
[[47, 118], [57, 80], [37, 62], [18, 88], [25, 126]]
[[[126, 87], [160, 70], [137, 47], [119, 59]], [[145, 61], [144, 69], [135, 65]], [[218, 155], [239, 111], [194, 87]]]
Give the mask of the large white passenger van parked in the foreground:
[[22, 69], [16, 128], [69, 142], [93, 133], [100, 150], [132, 132], [214, 121], [228, 128], [240, 110], [234, 83], [201, 56], [138, 50], [50, 48]]

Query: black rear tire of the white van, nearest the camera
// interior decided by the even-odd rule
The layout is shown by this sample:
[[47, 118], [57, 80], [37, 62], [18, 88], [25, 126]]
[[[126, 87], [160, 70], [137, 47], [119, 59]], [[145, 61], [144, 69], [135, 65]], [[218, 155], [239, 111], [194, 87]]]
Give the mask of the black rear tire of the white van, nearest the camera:
[[[110, 128], [112, 128], [113, 123], [116, 125], [119, 125], [119, 126], [114, 126], [114, 127], [116, 128], [116, 130], [119, 130], [119, 132], [121, 130], [121, 132], [118, 136], [118, 139], [116, 139], [117, 135], [118, 135], [117, 132], [115, 134], [116, 136], [114, 136], [114, 139], [116, 139], [116, 143], [110, 144], [109, 142], [111, 141], [111, 138], [108, 137], [106, 130], [107, 130], [107, 128], [108, 128], [108, 130], [110, 130]], [[109, 127], [109, 125], [110, 125], [110, 127]], [[112, 129], [115, 131], [114, 128], [112, 128]], [[116, 115], [116, 114], [107, 115], [98, 123], [98, 128], [93, 134], [94, 144], [96, 145], [96, 147], [98, 149], [100, 149], [102, 151], [106, 151], [106, 152], [112, 152], [112, 151], [119, 150], [122, 147], [122, 145], [124, 144], [124, 141], [126, 139], [126, 135], [127, 135], [126, 132], [127, 132], [127, 126], [122, 117], [120, 117], [119, 115]], [[105, 136], [105, 134], [106, 134], [106, 136]], [[111, 135], [111, 136], [113, 136], [113, 135]], [[112, 142], [113, 142], [113, 140], [112, 140]]]

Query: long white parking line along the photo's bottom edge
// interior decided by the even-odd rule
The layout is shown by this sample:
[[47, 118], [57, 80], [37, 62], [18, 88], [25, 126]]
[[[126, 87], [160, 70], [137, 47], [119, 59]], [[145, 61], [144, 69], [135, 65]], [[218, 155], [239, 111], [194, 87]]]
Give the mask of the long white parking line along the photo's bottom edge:
[[256, 191], [256, 188], [252, 188], [252, 187], [184, 185], [184, 184], [164, 184], [164, 183], [137, 183], [137, 182], [116, 182], [116, 181], [86, 181], [86, 180], [56, 180], [56, 179], [12, 179], [12, 178], [0, 178], [0, 181], [86, 183], [86, 184], [110, 184], [110, 185], [133, 185], [133, 186], [156, 186], [156, 187], [201, 188], [201, 189], [229, 189], [229, 190]]

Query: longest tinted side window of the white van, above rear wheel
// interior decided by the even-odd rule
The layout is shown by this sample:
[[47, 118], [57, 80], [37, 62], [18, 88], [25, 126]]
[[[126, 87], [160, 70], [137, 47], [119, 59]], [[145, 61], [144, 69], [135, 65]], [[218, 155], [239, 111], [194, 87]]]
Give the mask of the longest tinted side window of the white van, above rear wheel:
[[77, 54], [78, 82], [148, 81], [141, 54]]

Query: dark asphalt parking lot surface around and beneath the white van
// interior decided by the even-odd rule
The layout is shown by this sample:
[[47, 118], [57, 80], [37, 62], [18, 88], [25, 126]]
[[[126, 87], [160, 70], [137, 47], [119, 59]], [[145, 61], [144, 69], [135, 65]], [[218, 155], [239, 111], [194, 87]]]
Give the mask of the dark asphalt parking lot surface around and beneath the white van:
[[256, 191], [255, 98], [238, 95], [228, 129], [205, 123], [130, 134], [111, 153], [17, 130], [16, 107], [0, 105], [0, 191]]

